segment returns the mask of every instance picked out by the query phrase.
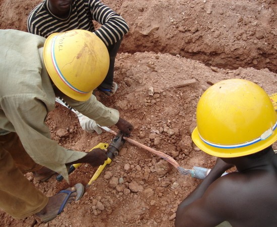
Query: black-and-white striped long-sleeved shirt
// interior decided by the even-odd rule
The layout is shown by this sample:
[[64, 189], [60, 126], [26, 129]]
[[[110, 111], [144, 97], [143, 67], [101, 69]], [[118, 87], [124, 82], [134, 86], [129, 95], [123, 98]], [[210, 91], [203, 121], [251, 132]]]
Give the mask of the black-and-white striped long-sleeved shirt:
[[[93, 20], [101, 24], [95, 30]], [[94, 32], [107, 46], [116, 43], [128, 31], [126, 21], [100, 3], [99, 0], [73, 0], [67, 18], [54, 16], [48, 7], [48, 0], [39, 4], [28, 17], [28, 32], [47, 38], [54, 32], [84, 29]]]

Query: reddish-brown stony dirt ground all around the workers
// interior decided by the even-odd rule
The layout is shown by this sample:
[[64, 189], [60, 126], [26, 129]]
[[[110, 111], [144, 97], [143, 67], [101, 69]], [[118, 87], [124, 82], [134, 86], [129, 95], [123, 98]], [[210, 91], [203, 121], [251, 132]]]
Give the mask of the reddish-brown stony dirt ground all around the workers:
[[[26, 31], [27, 15], [39, 2], [2, 0], [1, 28]], [[98, 93], [101, 101], [134, 125], [133, 140], [167, 153], [182, 167], [211, 168], [216, 158], [200, 151], [190, 138], [197, 102], [211, 84], [223, 79], [247, 79], [268, 94], [276, 92], [275, 2], [103, 2], [126, 19], [130, 32], [115, 63], [118, 91], [111, 97]], [[114, 137], [84, 132], [75, 114], [60, 104], [46, 124], [52, 139], [80, 151]], [[86, 185], [95, 171], [81, 165], [70, 175], [71, 185]], [[47, 196], [67, 187], [54, 177], [40, 184], [31, 174], [26, 177]], [[54, 220], [14, 220], [0, 212], [0, 225], [174, 226], [178, 204], [199, 182], [126, 142], [85, 196]]]

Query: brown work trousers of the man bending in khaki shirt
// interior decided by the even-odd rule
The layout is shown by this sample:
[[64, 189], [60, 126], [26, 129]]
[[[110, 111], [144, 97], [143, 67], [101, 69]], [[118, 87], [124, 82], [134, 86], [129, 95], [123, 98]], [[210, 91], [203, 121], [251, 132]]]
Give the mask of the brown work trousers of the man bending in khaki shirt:
[[46, 206], [48, 197], [23, 175], [40, 168], [42, 166], [28, 155], [16, 133], [0, 136], [0, 209], [20, 219]]

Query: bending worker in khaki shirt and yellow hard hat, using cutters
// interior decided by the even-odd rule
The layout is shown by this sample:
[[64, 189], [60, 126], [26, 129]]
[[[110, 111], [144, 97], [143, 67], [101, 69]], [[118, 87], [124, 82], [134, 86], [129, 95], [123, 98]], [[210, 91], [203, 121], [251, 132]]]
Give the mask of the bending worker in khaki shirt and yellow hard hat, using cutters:
[[92, 95], [109, 68], [108, 50], [95, 34], [72, 30], [45, 39], [0, 30], [0, 39], [0, 208], [16, 219], [35, 214], [48, 221], [66, 203], [80, 199], [84, 186], [79, 183], [48, 198], [23, 174], [49, 177], [56, 172], [68, 182], [66, 166], [99, 166], [107, 158], [99, 148], [89, 153], [66, 150], [51, 140], [44, 120], [55, 97], [101, 126], [116, 125], [124, 133], [133, 126]]

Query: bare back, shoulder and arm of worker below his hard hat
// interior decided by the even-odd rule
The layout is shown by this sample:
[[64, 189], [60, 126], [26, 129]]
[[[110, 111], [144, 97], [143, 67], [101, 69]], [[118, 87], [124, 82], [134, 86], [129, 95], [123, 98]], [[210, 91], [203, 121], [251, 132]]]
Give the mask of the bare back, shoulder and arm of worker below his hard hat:
[[204, 227], [229, 221], [233, 227], [277, 226], [276, 155], [270, 147], [257, 158], [224, 158], [225, 162], [235, 164], [238, 172], [220, 177], [223, 165], [217, 168], [221, 168], [218, 173], [215, 173], [217, 170], [211, 172], [214, 179], [213, 176], [210, 180], [204, 179], [202, 188], [205, 184], [207, 188], [202, 196], [198, 194], [197, 198], [197, 190], [201, 193], [199, 185], [179, 205], [177, 215], [181, 218], [176, 220], [175, 225]]

